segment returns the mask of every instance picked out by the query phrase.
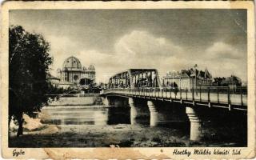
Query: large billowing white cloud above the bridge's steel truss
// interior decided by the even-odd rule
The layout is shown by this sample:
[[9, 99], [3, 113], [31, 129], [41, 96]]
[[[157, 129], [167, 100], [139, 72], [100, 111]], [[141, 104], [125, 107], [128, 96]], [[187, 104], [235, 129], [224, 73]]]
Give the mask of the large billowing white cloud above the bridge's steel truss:
[[[172, 60], [184, 54], [182, 47], [175, 45], [170, 39], [142, 30], [133, 30], [123, 35], [115, 42], [114, 49], [115, 63], [126, 66], [125, 68], [169, 69], [174, 67]], [[166, 62], [168, 59], [170, 61]]]

